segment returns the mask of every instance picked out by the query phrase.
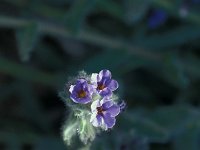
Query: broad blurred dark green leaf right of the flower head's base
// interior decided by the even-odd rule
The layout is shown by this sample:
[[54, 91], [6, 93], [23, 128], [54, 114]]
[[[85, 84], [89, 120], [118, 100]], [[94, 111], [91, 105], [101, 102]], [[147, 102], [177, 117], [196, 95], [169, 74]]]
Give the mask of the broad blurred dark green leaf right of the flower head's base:
[[193, 125], [193, 122], [198, 125], [199, 116], [198, 110], [186, 106], [160, 107], [154, 111], [136, 109], [125, 112], [119, 118], [118, 127], [148, 138], [149, 142], [163, 143], [170, 137], [181, 138], [190, 130], [188, 125]]

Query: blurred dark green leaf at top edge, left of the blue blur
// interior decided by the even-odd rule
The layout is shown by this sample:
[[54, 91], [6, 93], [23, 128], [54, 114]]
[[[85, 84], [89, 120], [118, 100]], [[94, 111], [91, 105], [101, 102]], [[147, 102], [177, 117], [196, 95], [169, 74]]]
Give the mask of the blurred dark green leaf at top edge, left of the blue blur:
[[125, 21], [134, 24], [145, 16], [150, 1], [149, 0], [125, 0]]

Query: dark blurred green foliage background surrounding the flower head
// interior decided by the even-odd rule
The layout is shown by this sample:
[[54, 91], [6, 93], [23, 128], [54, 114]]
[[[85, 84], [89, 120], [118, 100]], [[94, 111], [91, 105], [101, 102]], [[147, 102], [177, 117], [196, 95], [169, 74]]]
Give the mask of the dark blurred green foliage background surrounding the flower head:
[[58, 92], [101, 69], [127, 107], [92, 149], [199, 150], [199, 48], [199, 0], [0, 0], [0, 150], [69, 149]]

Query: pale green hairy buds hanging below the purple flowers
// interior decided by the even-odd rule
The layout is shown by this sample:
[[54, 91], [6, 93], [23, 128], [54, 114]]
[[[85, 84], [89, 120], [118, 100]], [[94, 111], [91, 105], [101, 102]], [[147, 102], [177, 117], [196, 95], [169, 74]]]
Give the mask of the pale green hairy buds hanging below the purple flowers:
[[[96, 129], [89, 121], [89, 113], [88, 110], [84, 111], [79, 109], [79, 113], [74, 112], [70, 114], [62, 129], [65, 144], [71, 147], [78, 146], [75, 141], [81, 142], [80, 145], [91, 144], [96, 136]], [[79, 137], [79, 139], [77, 137]], [[81, 147], [87, 148], [85, 146]]]

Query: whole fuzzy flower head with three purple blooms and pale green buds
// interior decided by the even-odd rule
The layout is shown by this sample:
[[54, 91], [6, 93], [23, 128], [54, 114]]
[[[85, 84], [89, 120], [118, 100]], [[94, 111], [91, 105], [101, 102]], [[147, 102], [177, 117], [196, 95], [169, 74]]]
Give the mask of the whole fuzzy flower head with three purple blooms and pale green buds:
[[78, 149], [77, 145], [72, 144], [75, 137], [78, 136], [83, 144], [91, 145], [96, 134], [113, 128], [116, 116], [126, 104], [115, 94], [119, 85], [112, 79], [109, 70], [90, 75], [81, 71], [69, 82], [59, 93], [69, 110], [62, 136], [64, 142], [72, 146], [71, 149]]

